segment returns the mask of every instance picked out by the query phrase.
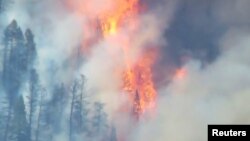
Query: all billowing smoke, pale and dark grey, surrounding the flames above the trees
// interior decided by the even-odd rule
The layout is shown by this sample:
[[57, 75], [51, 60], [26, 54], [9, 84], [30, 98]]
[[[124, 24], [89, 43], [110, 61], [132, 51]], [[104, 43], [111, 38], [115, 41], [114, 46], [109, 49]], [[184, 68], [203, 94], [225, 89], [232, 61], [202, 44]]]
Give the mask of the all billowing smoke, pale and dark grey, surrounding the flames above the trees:
[[[141, 0], [136, 32], [125, 26], [117, 36], [101, 38], [97, 19], [114, 1], [16, 0], [1, 15], [0, 28], [16, 19], [32, 29], [44, 86], [70, 85], [84, 75], [91, 99], [105, 104], [120, 140], [203, 141], [207, 124], [250, 123], [248, 0]], [[126, 69], [121, 45], [127, 41], [130, 62], [145, 50], [157, 52], [155, 111], [136, 124], [124, 110], [129, 96], [116, 70]], [[175, 77], [178, 69], [185, 74]]]

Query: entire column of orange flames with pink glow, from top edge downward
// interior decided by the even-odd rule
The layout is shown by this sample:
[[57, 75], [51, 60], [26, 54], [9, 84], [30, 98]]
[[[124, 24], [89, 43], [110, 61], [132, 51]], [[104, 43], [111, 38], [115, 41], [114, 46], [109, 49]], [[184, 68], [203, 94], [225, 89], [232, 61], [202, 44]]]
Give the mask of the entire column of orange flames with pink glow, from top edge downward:
[[[126, 67], [121, 72], [122, 90], [129, 94], [130, 106], [133, 107], [135, 116], [139, 117], [144, 112], [152, 110], [155, 106], [157, 95], [152, 75], [152, 65], [154, 64], [156, 52], [143, 50], [136, 61], [132, 62], [131, 60], [133, 59], [130, 58], [129, 54], [135, 50], [131, 44], [131, 41], [134, 39], [129, 35], [120, 36], [120, 33], [124, 30], [131, 34], [136, 32], [139, 25], [139, 0], [104, 0], [104, 3], [107, 3], [107, 7], [99, 7], [97, 8], [98, 10], [93, 6], [96, 2], [99, 2], [97, 0], [86, 1], [84, 4], [80, 0], [75, 1], [77, 1], [75, 4], [69, 2], [69, 5], [73, 5], [72, 7], [77, 11], [77, 14], [85, 14], [91, 20], [97, 20], [102, 37], [104, 39], [108, 39], [111, 36], [116, 37], [116, 42], [123, 50], [123, 59]], [[90, 35], [92, 34], [90, 32]], [[94, 40], [96, 39], [96, 36], [90, 37], [93, 37]], [[116, 44], [112, 42], [114, 40], [108, 41], [111, 42], [110, 44]]]

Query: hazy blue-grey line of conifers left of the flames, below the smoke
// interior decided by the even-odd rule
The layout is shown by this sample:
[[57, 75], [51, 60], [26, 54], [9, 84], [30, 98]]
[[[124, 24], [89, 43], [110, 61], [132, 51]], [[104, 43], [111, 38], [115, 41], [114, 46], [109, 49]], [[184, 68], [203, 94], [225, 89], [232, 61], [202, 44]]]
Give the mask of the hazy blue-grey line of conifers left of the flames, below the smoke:
[[70, 86], [41, 85], [30, 29], [23, 32], [13, 20], [4, 30], [2, 45], [1, 141], [116, 141], [104, 105], [90, 101], [83, 75]]

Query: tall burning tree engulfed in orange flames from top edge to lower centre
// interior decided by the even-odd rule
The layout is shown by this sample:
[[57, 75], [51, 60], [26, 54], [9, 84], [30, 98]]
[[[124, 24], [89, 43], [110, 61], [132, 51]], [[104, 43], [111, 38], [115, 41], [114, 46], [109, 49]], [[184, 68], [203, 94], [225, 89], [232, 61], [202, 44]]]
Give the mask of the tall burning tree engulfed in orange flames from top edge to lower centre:
[[[70, 2], [69, 2], [70, 3]], [[134, 100], [136, 97], [136, 91], [138, 91], [138, 98], [140, 99], [140, 105], [143, 114], [144, 111], [151, 110], [155, 104], [156, 99], [156, 89], [153, 82], [152, 65], [154, 64], [156, 51], [148, 49], [144, 45], [136, 46], [133, 44], [137, 42], [136, 34], [140, 30], [140, 1], [139, 0], [115, 0], [112, 1], [112, 6], [101, 10], [95, 18], [91, 15], [90, 21], [98, 21], [99, 26], [94, 26], [94, 28], [100, 28], [93, 31], [99, 32], [101, 30], [102, 37], [93, 36], [94, 39], [101, 38], [108, 42], [110, 46], [118, 46], [122, 50], [122, 59], [124, 66], [121, 68], [117, 67], [115, 70], [121, 70], [120, 78], [123, 82], [122, 91], [129, 95], [129, 105], [133, 107]], [[84, 3], [76, 2], [75, 5], [71, 5], [74, 10], [85, 15], [88, 14], [88, 9]], [[93, 22], [95, 23], [95, 22]], [[92, 29], [92, 24], [89, 25]], [[112, 40], [115, 39], [116, 41]], [[85, 51], [88, 40], [83, 40], [83, 52]], [[90, 45], [91, 47], [91, 45]], [[141, 54], [138, 56], [133, 56], [131, 54], [135, 53], [135, 50], [141, 49]], [[112, 47], [107, 49], [111, 50]], [[110, 53], [112, 54], [112, 53]], [[110, 55], [112, 58], [112, 55]]]

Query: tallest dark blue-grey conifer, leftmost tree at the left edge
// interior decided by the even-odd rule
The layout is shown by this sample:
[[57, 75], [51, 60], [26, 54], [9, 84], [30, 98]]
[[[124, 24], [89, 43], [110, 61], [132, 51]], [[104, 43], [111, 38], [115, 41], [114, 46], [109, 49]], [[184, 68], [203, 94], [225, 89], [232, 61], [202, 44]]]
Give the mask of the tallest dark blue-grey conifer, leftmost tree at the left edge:
[[[8, 97], [8, 114], [4, 133], [4, 141], [7, 140], [10, 129], [10, 121], [17, 107], [14, 107], [20, 100], [17, 98], [21, 86], [23, 70], [20, 67], [19, 56], [24, 49], [24, 37], [17, 22], [13, 20], [4, 32], [4, 62], [2, 82], [5, 93]], [[22, 57], [21, 57], [22, 58]], [[25, 117], [25, 115], [24, 115]]]

